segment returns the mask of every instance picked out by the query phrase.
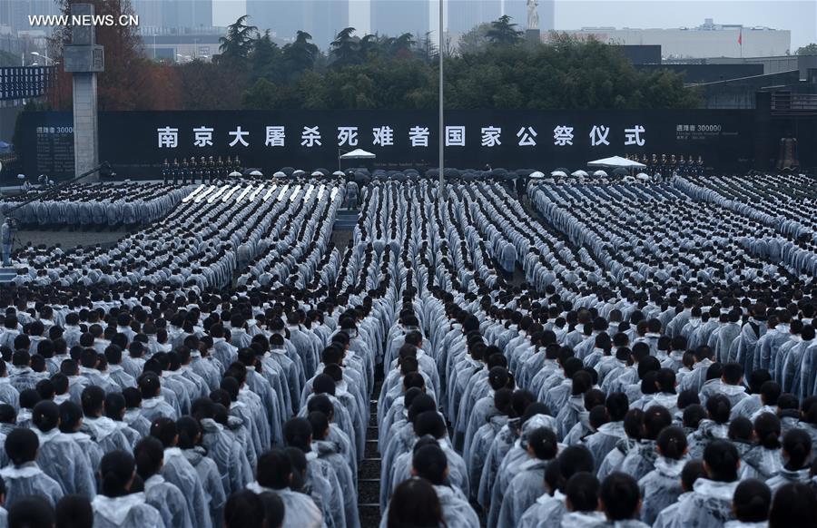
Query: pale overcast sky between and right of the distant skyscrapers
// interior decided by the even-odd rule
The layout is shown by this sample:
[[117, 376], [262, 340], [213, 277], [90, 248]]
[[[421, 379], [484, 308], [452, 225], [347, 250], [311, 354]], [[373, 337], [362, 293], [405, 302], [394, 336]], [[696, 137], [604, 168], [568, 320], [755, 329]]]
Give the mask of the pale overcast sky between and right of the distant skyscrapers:
[[[353, 13], [366, 11], [369, 0], [351, 1], [355, 3]], [[431, 1], [436, 5], [435, 0]], [[214, 24], [230, 24], [245, 12], [244, 0], [213, 0]], [[436, 22], [436, 16], [432, 18]], [[556, 0], [556, 29], [599, 25], [694, 27], [703, 24], [704, 18], [722, 24], [790, 29], [792, 50], [817, 42], [817, 0]]]

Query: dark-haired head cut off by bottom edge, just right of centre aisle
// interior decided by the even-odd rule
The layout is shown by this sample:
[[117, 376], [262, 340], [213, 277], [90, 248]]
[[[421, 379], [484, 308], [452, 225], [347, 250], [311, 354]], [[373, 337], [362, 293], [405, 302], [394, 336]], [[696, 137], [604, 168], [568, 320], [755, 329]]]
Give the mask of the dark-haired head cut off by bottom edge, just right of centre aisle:
[[437, 492], [427, 480], [412, 478], [399, 484], [391, 495], [386, 528], [438, 528], [445, 526]]

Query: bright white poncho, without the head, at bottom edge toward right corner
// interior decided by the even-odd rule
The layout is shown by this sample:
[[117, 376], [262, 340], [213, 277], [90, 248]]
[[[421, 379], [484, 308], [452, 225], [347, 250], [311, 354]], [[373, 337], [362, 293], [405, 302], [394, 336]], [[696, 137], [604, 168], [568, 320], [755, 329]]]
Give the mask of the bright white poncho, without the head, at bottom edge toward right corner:
[[734, 482], [716, 482], [699, 478], [686, 507], [678, 509], [678, 526], [715, 528], [733, 520], [732, 498], [738, 485]]

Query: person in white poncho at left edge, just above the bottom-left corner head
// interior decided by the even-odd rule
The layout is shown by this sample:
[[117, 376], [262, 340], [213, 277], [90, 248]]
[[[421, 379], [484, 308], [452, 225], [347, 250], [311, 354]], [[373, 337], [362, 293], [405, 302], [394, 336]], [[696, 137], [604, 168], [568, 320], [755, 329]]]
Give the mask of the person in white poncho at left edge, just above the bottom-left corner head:
[[63, 488], [36, 463], [40, 442], [29, 429], [15, 429], [5, 437], [5, 454], [11, 464], [0, 469], [5, 483], [5, 508], [12, 513], [16, 502], [29, 495], [44, 497], [51, 507], [63, 498]]

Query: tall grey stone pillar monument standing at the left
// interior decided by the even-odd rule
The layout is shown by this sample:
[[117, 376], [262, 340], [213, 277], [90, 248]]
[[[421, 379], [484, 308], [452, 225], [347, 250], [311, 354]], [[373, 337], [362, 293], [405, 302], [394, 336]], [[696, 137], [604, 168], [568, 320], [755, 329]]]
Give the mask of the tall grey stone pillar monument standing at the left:
[[[72, 16], [94, 15], [94, 5], [74, 4]], [[94, 25], [74, 25], [71, 44], [64, 49], [65, 71], [74, 78], [74, 172], [99, 165], [99, 131], [96, 119], [96, 74], [105, 70], [103, 46], [96, 44]], [[85, 181], [95, 181], [89, 176]]]

